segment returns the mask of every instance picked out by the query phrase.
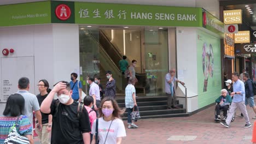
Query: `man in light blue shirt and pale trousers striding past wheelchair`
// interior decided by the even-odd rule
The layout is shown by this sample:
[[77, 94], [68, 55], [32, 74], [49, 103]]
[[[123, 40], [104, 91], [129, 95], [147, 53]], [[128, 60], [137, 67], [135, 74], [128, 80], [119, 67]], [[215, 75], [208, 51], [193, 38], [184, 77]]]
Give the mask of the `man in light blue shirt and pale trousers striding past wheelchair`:
[[234, 92], [232, 92], [230, 95], [233, 97], [233, 99], [232, 99], [232, 103], [231, 103], [226, 121], [223, 123], [220, 123], [226, 128], [229, 128], [229, 124], [231, 122], [232, 117], [235, 114], [237, 107], [240, 109], [240, 111], [243, 113], [243, 116], [245, 117], [246, 124], [244, 128], [252, 127], [252, 124], [249, 121], [249, 117], [248, 117], [248, 113], [245, 105], [245, 84], [239, 79], [239, 76], [240, 75], [238, 73], [232, 74], [232, 80], [234, 81], [234, 85], [233, 85]]

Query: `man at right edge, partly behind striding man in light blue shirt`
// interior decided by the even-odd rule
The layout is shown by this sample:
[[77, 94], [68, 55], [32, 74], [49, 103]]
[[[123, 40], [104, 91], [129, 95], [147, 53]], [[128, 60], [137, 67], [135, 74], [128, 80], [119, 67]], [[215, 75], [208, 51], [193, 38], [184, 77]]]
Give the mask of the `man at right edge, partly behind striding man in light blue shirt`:
[[[243, 80], [245, 81], [245, 94], [246, 94], [246, 99], [245, 99], [245, 104], [250, 107], [252, 107], [255, 117], [253, 119], [256, 119], [256, 106], [254, 104], [254, 83], [251, 79], [249, 79], [249, 74], [244, 73], [243, 74]], [[241, 113], [241, 118], [243, 117], [243, 114]]]

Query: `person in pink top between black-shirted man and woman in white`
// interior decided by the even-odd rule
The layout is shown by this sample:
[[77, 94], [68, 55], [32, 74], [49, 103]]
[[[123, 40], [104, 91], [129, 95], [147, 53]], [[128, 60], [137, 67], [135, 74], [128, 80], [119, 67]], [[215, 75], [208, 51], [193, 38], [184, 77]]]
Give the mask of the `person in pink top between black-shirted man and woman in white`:
[[[96, 112], [91, 109], [93, 105], [94, 105], [94, 98], [92, 98], [90, 95], [86, 95], [86, 97], [84, 98], [84, 107], [88, 112], [91, 128], [92, 128], [92, 124], [94, 123], [94, 120], [97, 118]], [[93, 135], [91, 134], [91, 140], [92, 140], [92, 136]]]

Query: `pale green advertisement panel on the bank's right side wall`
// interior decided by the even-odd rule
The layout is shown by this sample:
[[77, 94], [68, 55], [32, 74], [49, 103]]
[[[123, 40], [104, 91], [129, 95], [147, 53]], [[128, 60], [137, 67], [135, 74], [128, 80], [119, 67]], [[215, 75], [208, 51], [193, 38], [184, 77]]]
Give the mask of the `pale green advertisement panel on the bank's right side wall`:
[[198, 107], [214, 103], [222, 88], [220, 39], [197, 31]]

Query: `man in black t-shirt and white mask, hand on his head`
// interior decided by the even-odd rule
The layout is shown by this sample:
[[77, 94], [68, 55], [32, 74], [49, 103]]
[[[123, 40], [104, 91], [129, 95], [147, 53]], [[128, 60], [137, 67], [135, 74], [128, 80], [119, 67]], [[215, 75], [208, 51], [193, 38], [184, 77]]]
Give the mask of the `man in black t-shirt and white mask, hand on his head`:
[[[58, 100], [53, 100], [57, 94]], [[90, 120], [81, 103], [71, 98], [72, 90], [68, 82], [58, 82], [41, 104], [43, 113], [53, 115], [51, 144], [89, 144]]]

